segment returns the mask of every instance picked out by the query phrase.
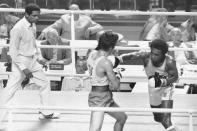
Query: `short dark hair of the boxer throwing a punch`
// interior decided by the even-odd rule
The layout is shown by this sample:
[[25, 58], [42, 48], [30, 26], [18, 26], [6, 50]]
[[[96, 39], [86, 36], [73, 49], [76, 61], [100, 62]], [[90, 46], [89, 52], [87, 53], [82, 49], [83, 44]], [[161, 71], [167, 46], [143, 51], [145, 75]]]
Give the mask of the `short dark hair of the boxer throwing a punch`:
[[152, 42], [149, 43], [150, 48], [156, 48], [158, 50], [161, 50], [163, 54], [166, 54], [168, 52], [168, 44], [161, 39], [155, 39]]

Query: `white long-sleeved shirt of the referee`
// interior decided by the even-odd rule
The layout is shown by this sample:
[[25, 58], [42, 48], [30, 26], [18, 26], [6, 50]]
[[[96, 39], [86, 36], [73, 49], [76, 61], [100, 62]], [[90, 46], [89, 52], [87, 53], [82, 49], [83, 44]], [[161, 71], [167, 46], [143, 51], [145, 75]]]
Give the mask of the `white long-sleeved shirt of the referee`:
[[38, 53], [35, 36], [35, 24], [31, 26], [25, 17], [16, 23], [10, 31], [10, 55], [13, 62], [19, 62], [20, 56], [34, 57]]

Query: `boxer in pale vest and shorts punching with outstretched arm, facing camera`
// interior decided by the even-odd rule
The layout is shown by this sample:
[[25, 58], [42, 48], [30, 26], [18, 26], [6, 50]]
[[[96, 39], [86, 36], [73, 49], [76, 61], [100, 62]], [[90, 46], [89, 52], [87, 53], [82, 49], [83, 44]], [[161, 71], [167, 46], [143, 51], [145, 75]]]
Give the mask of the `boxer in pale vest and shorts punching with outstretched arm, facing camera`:
[[[120, 61], [142, 59], [148, 77], [151, 108], [173, 108], [173, 83], [178, 79], [175, 60], [167, 55], [168, 44], [156, 39], [150, 42], [150, 52], [137, 51], [119, 56]], [[171, 122], [171, 113], [153, 112], [154, 120], [167, 131], [179, 131]]]

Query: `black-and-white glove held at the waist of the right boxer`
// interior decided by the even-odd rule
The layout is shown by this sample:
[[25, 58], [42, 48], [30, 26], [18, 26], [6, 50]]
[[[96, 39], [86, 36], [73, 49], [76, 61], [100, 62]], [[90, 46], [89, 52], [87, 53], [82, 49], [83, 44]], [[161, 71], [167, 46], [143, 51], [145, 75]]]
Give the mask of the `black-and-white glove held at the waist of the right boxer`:
[[167, 85], [167, 81], [165, 78], [162, 78], [159, 73], [155, 72], [155, 75], [150, 76], [148, 80], [149, 87], [163, 87]]

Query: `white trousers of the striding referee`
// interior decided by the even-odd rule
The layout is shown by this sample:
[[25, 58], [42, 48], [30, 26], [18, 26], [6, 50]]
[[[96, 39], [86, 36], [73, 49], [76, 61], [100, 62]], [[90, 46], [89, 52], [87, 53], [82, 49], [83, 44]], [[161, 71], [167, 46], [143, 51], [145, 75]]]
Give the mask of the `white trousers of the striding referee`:
[[[40, 87], [41, 104], [48, 105], [50, 83], [42, 70], [42, 66], [32, 57], [20, 56], [20, 62], [32, 72], [33, 78], [31, 78], [31, 81]], [[17, 89], [21, 88], [21, 82], [24, 78], [24, 73], [13, 62], [12, 74], [9, 76], [7, 86], [0, 93], [0, 106], [9, 105]], [[5, 110], [0, 110], [0, 122], [2, 122], [5, 114]]]

